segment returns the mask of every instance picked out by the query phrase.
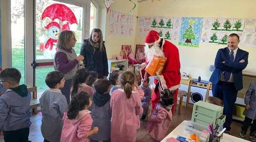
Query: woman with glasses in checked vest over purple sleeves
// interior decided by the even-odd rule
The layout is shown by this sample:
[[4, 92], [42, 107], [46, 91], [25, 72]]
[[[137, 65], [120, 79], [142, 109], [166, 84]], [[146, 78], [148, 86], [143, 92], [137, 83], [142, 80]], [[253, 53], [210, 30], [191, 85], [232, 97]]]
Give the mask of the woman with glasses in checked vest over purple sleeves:
[[60, 88], [60, 90], [62, 94], [65, 95], [68, 104], [70, 101], [69, 95], [73, 77], [78, 70], [78, 63], [84, 59], [83, 56], [76, 55], [73, 49], [75, 44], [76, 38], [74, 32], [71, 30], [63, 30], [59, 35], [57, 42], [58, 51], [54, 56], [54, 70], [61, 71], [66, 80], [64, 87]]

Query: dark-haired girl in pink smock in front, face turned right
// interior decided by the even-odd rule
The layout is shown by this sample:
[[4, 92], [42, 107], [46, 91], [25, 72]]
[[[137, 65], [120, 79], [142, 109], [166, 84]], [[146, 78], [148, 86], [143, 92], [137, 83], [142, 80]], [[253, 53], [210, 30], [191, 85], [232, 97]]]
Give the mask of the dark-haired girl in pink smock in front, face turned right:
[[73, 96], [62, 118], [61, 142], [88, 142], [91, 135], [98, 133], [98, 127], [91, 130], [93, 120], [91, 112], [87, 110], [91, 105], [88, 93], [82, 91]]

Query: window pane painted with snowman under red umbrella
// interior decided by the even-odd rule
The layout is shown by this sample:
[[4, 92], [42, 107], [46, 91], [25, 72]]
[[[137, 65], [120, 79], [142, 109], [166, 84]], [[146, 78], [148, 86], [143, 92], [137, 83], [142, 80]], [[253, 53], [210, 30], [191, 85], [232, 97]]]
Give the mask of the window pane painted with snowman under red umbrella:
[[[62, 4], [62, 5], [53, 5]], [[55, 12], [52, 12], [52, 10]], [[72, 30], [76, 36], [73, 47], [80, 53], [83, 34], [83, 7], [56, 2], [36, 0], [36, 59], [53, 59], [57, 51], [56, 43], [62, 30]]]

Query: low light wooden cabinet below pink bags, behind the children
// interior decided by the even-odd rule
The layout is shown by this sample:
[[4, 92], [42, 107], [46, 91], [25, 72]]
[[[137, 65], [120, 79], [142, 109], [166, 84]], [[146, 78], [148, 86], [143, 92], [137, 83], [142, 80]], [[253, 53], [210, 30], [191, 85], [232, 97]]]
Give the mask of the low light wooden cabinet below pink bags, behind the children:
[[[107, 60], [108, 67], [109, 67], [109, 74], [112, 73], [113, 70], [118, 69], [116, 65], [121, 64], [124, 65], [125, 67], [123, 68], [123, 71], [126, 71], [128, 69], [128, 60], [127, 59], [108, 59]], [[107, 76], [109, 78], [109, 75]]]

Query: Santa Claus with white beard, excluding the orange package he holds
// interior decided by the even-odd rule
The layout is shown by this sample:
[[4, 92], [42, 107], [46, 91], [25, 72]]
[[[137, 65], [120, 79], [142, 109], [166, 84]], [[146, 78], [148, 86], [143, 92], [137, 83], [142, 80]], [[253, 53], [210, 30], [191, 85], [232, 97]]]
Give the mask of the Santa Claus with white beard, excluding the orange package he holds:
[[[169, 89], [171, 91], [176, 91], [174, 100], [176, 103], [178, 88], [180, 87], [180, 57], [178, 48], [169, 41], [164, 40], [162, 37], [159, 37], [159, 33], [151, 30], [145, 38], [145, 56], [146, 61], [142, 64], [135, 64], [138, 71], [141, 72], [143, 79], [147, 79], [150, 74], [147, 73], [144, 69], [150, 61], [150, 58], [153, 55], [166, 57], [166, 64], [163, 68], [162, 74], [154, 76], [154, 84], [156, 87], [152, 93], [152, 110], [155, 108], [157, 102], [160, 100], [159, 94], [160, 91], [164, 89]], [[171, 108], [173, 113], [175, 105]]]

